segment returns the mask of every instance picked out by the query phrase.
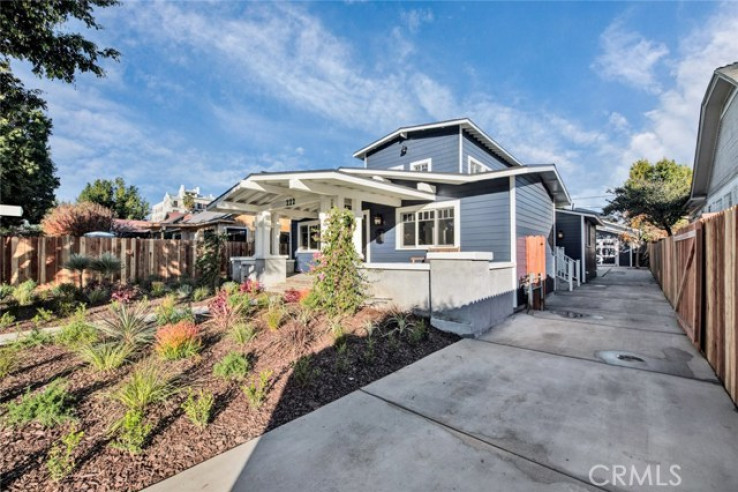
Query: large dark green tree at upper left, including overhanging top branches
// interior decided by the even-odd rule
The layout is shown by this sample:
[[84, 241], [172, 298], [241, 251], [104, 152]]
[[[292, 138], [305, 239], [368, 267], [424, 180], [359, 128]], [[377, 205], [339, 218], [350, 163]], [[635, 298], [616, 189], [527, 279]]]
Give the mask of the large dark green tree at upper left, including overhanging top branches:
[[[27, 61], [39, 77], [75, 81], [77, 73], [105, 75], [100, 61], [117, 59], [111, 48], [98, 49], [68, 21], [100, 29], [94, 9], [115, 0], [4, 0], [0, 2], [0, 202], [21, 205], [24, 217], [38, 222], [59, 187], [48, 139], [51, 120], [38, 91], [27, 90], [13, 75], [11, 60]], [[20, 219], [5, 218], [6, 224]]]

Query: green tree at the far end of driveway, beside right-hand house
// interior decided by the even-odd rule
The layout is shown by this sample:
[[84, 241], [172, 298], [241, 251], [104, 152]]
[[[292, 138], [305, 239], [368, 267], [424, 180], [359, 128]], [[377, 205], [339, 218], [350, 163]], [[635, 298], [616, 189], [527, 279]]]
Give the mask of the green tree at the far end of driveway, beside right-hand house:
[[671, 236], [674, 225], [687, 213], [691, 184], [689, 167], [669, 159], [656, 164], [642, 159], [633, 163], [625, 184], [615, 188], [615, 198], [604, 213], [646, 220]]

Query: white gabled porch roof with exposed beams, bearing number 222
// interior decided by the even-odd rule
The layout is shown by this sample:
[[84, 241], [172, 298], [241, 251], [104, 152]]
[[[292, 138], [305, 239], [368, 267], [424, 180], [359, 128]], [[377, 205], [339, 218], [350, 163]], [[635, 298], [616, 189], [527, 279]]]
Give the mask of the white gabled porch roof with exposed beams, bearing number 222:
[[321, 197], [341, 196], [392, 207], [402, 200], [434, 201], [435, 193], [355, 176], [343, 170], [251, 174], [208, 205], [218, 212], [275, 211], [301, 219], [318, 216]]

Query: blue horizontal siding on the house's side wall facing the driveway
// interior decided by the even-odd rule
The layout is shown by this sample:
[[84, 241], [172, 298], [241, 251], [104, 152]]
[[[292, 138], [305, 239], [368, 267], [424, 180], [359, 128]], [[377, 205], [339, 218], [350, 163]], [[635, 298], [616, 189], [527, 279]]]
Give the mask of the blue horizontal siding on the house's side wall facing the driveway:
[[516, 257], [518, 274], [527, 272], [525, 262], [525, 236], [546, 238], [546, 270], [549, 276], [556, 275], [553, 265], [553, 250], [548, 242], [553, 231], [554, 205], [546, 187], [536, 178], [515, 178]]

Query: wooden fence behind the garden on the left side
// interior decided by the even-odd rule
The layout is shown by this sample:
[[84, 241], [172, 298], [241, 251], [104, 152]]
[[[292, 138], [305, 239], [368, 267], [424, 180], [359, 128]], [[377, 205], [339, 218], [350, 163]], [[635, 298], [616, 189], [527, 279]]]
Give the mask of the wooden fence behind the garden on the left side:
[[[198, 242], [180, 239], [0, 237], [0, 283], [17, 285], [73, 282], [74, 272], [64, 268], [73, 253], [97, 257], [110, 252], [121, 259], [116, 280], [134, 283], [158, 278], [164, 281], [196, 278]], [[221, 273], [228, 258], [248, 256], [245, 242], [228, 241], [221, 256]], [[89, 277], [89, 274], [86, 274]]]

